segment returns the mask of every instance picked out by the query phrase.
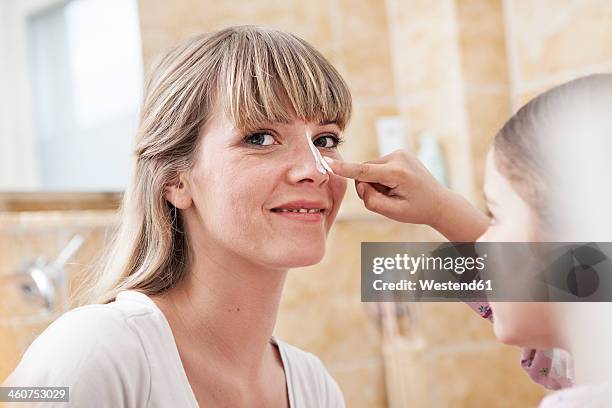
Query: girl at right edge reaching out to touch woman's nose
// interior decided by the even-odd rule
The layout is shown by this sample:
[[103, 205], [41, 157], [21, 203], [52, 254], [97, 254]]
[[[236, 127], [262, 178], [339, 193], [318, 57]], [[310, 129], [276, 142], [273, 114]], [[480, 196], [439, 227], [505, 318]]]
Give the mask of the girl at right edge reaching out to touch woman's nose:
[[[451, 241], [609, 241], [610, 107], [612, 75], [600, 74], [554, 88], [521, 108], [487, 158], [487, 215], [444, 189], [405, 152], [363, 164], [328, 162], [335, 174], [355, 179], [370, 210], [431, 225]], [[480, 311], [495, 317], [500, 341], [524, 347], [521, 363], [531, 378], [551, 389], [567, 388], [548, 396], [542, 408], [610, 406], [609, 304], [495, 302], [491, 309]], [[572, 360], [562, 350], [575, 358], [576, 387]]]

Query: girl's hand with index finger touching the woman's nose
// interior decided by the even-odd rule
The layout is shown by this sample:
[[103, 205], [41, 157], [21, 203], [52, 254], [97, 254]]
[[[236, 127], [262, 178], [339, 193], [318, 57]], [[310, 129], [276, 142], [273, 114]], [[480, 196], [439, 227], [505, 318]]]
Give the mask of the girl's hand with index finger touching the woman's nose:
[[475, 241], [488, 218], [460, 195], [442, 186], [405, 150], [364, 163], [325, 157], [336, 175], [355, 180], [365, 207], [400, 222], [427, 224], [451, 241]]

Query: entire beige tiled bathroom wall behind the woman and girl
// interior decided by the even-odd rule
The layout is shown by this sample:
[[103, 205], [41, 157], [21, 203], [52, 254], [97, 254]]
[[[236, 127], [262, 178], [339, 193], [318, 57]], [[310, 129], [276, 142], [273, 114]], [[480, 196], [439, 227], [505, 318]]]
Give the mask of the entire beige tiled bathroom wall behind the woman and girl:
[[[273, 26], [302, 36], [332, 61], [352, 90], [354, 115], [342, 147], [346, 159], [377, 157], [375, 119], [401, 115], [412, 148], [424, 132], [438, 135], [451, 187], [479, 205], [488, 146], [512, 111], [559, 82], [612, 70], [609, 0], [139, 4], [147, 65], [191, 34], [232, 24]], [[398, 318], [409, 326], [405, 341], [381, 335], [379, 310], [359, 301], [360, 242], [441, 237], [368, 214], [352, 190], [324, 261], [289, 274], [277, 335], [319, 355], [349, 407], [536, 406], [543, 390], [519, 368], [519, 351], [500, 345], [490, 324], [464, 305], [413, 305]], [[77, 260], [87, 263], [113, 220], [107, 213], [67, 213], [13, 215], [0, 222], [4, 274], [29, 256], [55, 254], [75, 231], [90, 234]], [[6, 284], [0, 296], [0, 352], [8, 356], [0, 359], [1, 379], [53, 315], [32, 310]]]

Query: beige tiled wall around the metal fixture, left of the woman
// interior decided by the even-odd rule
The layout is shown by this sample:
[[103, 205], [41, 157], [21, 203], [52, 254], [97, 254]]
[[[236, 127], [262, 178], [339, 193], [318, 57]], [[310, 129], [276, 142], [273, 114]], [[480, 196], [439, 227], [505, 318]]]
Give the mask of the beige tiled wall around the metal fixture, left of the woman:
[[66, 266], [68, 292], [93, 266], [115, 223], [111, 211], [0, 213], [0, 381], [15, 367], [21, 353], [44, 328], [70, 307], [58, 297], [51, 310], [29, 301], [11, 275], [39, 257], [56, 259], [76, 234], [85, 241]]

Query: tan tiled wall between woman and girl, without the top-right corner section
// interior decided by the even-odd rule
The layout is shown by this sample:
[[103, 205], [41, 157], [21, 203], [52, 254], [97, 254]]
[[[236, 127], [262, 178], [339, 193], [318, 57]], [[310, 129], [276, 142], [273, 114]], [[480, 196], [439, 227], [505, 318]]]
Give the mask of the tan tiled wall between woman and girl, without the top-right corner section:
[[[451, 187], [479, 202], [483, 146], [510, 114], [500, 2], [255, 1], [227, 9], [211, 1], [141, 0], [140, 6], [145, 66], [182, 38], [230, 24], [272, 26], [304, 37], [352, 90], [354, 115], [341, 149], [347, 160], [377, 157], [376, 118], [401, 115], [411, 148], [434, 132]], [[485, 106], [478, 103], [483, 97]], [[319, 355], [350, 407], [394, 402], [389, 392], [395, 391], [388, 389], [397, 383], [388, 378], [393, 361], [405, 363], [402, 380], [418, 377], [415, 384], [423, 385], [409, 396], [411, 406], [535, 405], [542, 392], [521, 372], [518, 350], [498, 345], [490, 324], [462, 304], [414, 308], [407, 319], [414, 320], [411, 327], [424, 347], [383, 346], [376, 310], [359, 302], [360, 242], [441, 237], [368, 214], [351, 188], [343, 205], [325, 260], [289, 275], [277, 335]], [[497, 374], [483, 381], [481, 373], [491, 371]]]

